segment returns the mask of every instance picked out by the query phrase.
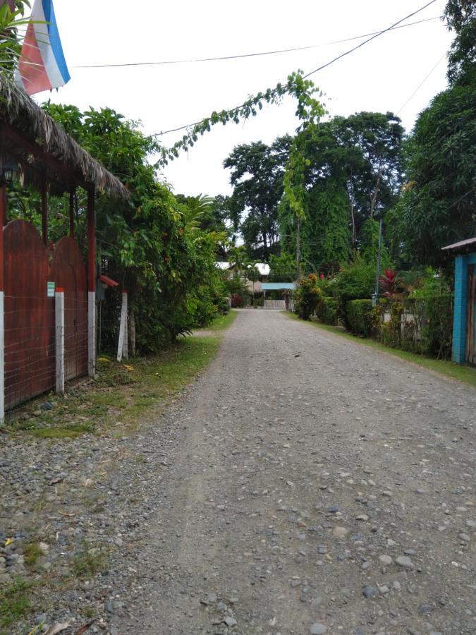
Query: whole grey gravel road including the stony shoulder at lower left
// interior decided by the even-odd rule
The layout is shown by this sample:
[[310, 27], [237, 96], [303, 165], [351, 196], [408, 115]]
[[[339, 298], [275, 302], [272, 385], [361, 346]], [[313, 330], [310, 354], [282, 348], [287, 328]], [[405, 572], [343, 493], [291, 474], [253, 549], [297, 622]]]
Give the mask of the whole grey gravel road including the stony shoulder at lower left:
[[475, 635], [475, 419], [465, 385], [240, 311], [136, 433], [2, 440], [0, 592], [37, 584], [0, 632]]

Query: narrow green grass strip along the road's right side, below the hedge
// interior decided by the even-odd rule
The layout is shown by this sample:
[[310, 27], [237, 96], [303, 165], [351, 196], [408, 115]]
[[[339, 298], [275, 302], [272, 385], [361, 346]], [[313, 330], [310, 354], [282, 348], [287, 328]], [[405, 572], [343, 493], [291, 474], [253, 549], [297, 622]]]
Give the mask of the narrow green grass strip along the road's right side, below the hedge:
[[[295, 315], [295, 313], [288, 313], [283, 311], [287, 317], [290, 317], [291, 320], [300, 320], [300, 318]], [[309, 324], [313, 327], [317, 327], [322, 331], [327, 331], [328, 333], [332, 333], [334, 335], [338, 335], [338, 337], [343, 337], [345, 339], [349, 339], [353, 341], [354, 344], [362, 344], [362, 346], [368, 346], [371, 349], [376, 349], [377, 351], [382, 351], [382, 353], [386, 353], [387, 355], [393, 355], [394, 357], [398, 357], [405, 361], [417, 364], [426, 368], [427, 370], [431, 370], [433, 373], [438, 373], [439, 375], [444, 375], [444, 377], [451, 377], [453, 380], [457, 380], [458, 382], [463, 382], [468, 384], [474, 388], [476, 388], [476, 368], [472, 368], [472, 366], [465, 366], [460, 364], [455, 364], [451, 361], [444, 361], [441, 359], [434, 359], [432, 357], [425, 357], [423, 355], [417, 355], [417, 353], [410, 353], [409, 351], [401, 351], [400, 349], [392, 349], [390, 346], [385, 346], [384, 344], [380, 344], [378, 341], [374, 341], [373, 339], [366, 339], [362, 337], [356, 337], [355, 335], [348, 333], [341, 329], [340, 327], [329, 326], [327, 324], [320, 324], [319, 322], [304, 322], [305, 324]]]

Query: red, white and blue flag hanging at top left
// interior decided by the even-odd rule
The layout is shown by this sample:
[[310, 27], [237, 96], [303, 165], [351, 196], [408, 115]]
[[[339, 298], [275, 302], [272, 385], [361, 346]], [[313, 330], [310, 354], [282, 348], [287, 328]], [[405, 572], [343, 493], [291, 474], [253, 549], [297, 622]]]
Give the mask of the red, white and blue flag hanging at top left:
[[59, 88], [70, 80], [53, 0], [35, 0], [31, 19], [15, 74], [16, 84], [28, 95]]

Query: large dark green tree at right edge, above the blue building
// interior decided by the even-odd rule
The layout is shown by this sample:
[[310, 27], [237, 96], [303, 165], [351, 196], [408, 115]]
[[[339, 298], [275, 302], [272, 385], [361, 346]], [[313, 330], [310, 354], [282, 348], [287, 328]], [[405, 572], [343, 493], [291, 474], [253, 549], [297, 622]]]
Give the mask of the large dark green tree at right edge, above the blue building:
[[476, 6], [450, 0], [455, 34], [448, 53], [450, 87], [417, 119], [408, 143], [408, 183], [396, 207], [395, 241], [408, 262], [445, 265], [445, 244], [476, 231]]

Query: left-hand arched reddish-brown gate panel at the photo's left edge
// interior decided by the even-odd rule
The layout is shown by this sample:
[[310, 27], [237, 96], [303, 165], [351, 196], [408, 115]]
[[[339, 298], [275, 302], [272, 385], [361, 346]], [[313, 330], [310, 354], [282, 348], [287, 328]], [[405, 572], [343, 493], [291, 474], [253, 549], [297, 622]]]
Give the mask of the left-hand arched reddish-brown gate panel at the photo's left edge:
[[49, 262], [30, 223], [4, 228], [5, 407], [54, 387], [54, 299], [47, 298]]

